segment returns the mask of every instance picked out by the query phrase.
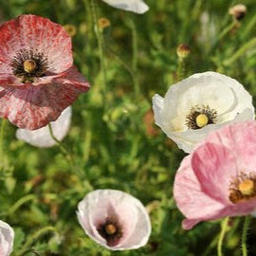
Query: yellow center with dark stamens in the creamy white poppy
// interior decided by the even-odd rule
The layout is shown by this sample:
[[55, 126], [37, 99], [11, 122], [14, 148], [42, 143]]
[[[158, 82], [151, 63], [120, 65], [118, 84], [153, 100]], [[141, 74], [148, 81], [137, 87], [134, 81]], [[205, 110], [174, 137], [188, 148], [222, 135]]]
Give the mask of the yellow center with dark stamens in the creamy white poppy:
[[207, 106], [194, 106], [186, 117], [186, 125], [189, 129], [196, 130], [205, 127], [210, 123], [215, 123], [217, 111]]

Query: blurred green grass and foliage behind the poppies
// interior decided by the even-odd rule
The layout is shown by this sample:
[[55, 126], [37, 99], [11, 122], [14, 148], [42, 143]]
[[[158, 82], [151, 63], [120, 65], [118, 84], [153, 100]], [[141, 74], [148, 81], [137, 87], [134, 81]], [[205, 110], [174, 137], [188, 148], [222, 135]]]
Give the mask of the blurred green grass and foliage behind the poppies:
[[[216, 255], [220, 221], [190, 231], [181, 228], [173, 182], [185, 154], [154, 125], [151, 101], [176, 82], [180, 44], [191, 47], [184, 77], [217, 71], [255, 96], [255, 0], [243, 1], [247, 15], [240, 23], [229, 15], [237, 1], [145, 2], [149, 11], [137, 15], [96, 0], [94, 17], [90, 0], [1, 0], [1, 23], [32, 13], [73, 26], [74, 61], [91, 83], [90, 91], [73, 104], [71, 129], [64, 138], [72, 165], [58, 146], [34, 148], [15, 138], [16, 127], [5, 127], [0, 219], [15, 229], [12, 255]], [[110, 22], [101, 29], [101, 47], [94, 29], [99, 18]], [[84, 234], [77, 204], [95, 189], [129, 192], [147, 206], [153, 232], [146, 247], [108, 251]], [[253, 227], [254, 220], [249, 255], [256, 255]], [[241, 255], [241, 230], [240, 219], [229, 221], [224, 255]]]

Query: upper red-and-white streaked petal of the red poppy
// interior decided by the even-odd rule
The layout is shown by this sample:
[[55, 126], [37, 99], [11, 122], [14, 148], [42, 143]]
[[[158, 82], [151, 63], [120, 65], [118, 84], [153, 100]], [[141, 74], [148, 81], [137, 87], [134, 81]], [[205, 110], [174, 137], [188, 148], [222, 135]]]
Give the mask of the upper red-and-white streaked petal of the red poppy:
[[73, 64], [71, 38], [64, 27], [44, 17], [21, 15], [0, 27], [0, 72], [12, 73], [9, 63], [25, 49], [43, 54], [52, 73]]

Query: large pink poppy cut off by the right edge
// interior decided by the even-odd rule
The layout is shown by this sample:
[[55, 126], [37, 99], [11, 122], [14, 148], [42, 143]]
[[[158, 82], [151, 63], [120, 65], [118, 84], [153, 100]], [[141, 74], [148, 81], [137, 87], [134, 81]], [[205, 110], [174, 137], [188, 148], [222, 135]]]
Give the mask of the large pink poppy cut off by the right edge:
[[256, 210], [256, 122], [238, 122], [210, 133], [186, 156], [174, 179], [184, 229], [201, 221]]

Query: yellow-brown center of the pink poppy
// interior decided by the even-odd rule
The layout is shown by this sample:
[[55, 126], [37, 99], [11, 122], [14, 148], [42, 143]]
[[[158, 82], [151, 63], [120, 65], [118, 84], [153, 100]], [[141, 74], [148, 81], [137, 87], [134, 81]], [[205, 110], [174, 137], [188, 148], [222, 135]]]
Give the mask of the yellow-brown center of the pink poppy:
[[256, 174], [240, 174], [230, 183], [229, 200], [233, 204], [256, 196]]

